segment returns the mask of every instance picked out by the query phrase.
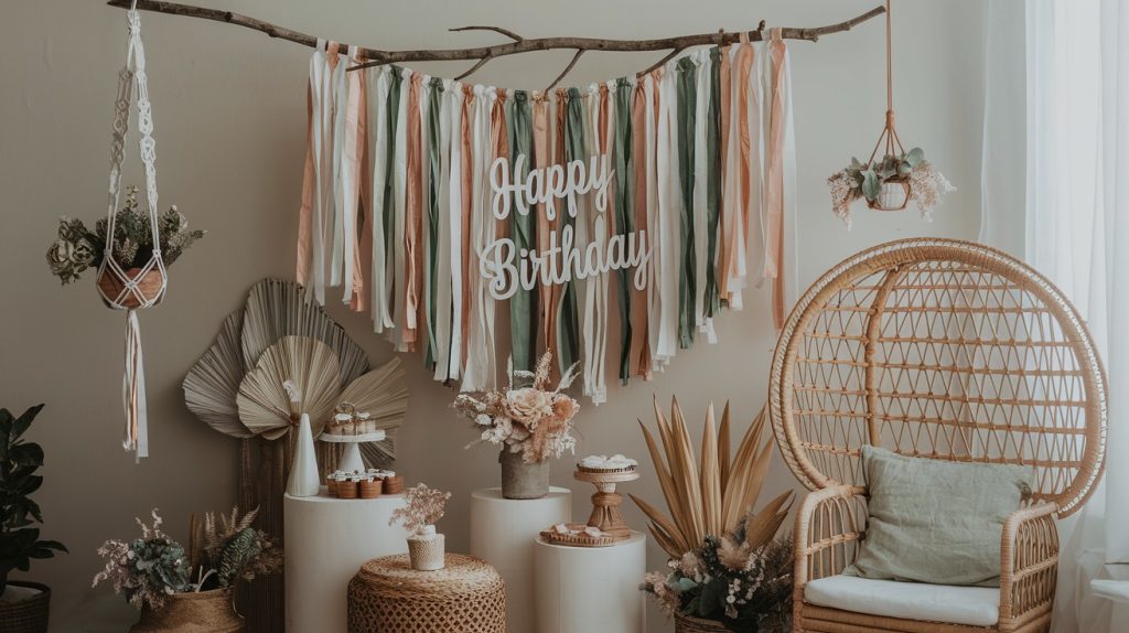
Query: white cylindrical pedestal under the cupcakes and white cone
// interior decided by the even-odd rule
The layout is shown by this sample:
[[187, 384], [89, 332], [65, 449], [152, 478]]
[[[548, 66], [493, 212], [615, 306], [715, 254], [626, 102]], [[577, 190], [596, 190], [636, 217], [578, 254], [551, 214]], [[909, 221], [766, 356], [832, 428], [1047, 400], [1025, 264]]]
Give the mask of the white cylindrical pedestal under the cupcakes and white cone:
[[287, 631], [345, 633], [349, 580], [366, 562], [408, 552], [408, 533], [390, 527], [403, 496], [283, 496]]

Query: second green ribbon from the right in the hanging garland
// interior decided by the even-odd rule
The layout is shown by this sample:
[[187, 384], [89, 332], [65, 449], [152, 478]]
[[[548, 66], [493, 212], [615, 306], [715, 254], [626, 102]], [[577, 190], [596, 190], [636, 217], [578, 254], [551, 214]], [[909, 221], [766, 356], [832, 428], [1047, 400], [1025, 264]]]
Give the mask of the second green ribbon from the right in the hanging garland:
[[679, 346], [683, 350], [694, 344], [694, 108], [698, 103], [697, 64], [682, 58], [675, 76], [677, 89], [679, 182], [682, 185], [682, 265], [679, 266]]

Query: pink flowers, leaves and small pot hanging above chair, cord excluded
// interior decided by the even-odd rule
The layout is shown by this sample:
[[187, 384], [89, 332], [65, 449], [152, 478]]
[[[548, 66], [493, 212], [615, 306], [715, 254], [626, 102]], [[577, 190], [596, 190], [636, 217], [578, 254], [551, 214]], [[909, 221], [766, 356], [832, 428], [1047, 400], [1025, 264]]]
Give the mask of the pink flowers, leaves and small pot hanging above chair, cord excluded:
[[940, 195], [956, 191], [928, 160], [921, 148], [891, 153], [882, 160], [859, 162], [851, 158], [847, 168], [828, 178], [831, 210], [850, 228], [850, 206], [866, 200], [872, 209], [898, 211], [914, 202], [921, 217], [931, 220]]

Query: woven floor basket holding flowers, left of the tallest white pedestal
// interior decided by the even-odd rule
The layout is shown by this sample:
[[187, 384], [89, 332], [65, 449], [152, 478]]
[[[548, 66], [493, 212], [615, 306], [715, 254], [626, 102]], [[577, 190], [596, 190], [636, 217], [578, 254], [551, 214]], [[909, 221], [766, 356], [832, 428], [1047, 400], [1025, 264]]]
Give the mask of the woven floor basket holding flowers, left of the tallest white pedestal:
[[243, 633], [243, 616], [235, 612], [230, 589], [190, 591], [165, 597], [159, 609], [141, 607], [141, 621], [130, 633]]

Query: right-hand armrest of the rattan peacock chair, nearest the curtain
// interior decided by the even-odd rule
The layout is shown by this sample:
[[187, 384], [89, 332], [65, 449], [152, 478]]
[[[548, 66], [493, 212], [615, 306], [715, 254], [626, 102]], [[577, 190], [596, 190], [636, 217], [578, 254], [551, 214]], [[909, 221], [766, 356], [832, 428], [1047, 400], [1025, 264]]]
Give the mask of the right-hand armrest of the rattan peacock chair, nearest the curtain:
[[999, 578], [1001, 628], [1019, 626], [1051, 608], [1058, 582], [1057, 511], [1056, 503], [1036, 503], [1012, 512], [1004, 521]]

